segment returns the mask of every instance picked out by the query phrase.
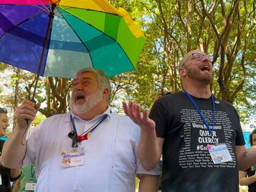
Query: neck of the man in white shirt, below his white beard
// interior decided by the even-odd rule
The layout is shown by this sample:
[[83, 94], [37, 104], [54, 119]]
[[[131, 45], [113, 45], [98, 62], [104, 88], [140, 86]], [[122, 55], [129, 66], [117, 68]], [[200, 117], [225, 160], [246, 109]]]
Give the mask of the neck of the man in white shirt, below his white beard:
[[107, 110], [107, 108], [108, 108], [108, 105], [102, 105], [102, 104], [98, 103], [96, 106], [91, 108], [91, 110], [89, 110], [88, 112], [85, 112], [85, 113], [74, 113], [73, 112], [73, 113], [74, 113], [74, 115], [79, 116], [79, 118], [81, 118], [85, 121], [90, 121], [97, 115], [101, 115], [102, 113], [104, 113], [105, 110]]

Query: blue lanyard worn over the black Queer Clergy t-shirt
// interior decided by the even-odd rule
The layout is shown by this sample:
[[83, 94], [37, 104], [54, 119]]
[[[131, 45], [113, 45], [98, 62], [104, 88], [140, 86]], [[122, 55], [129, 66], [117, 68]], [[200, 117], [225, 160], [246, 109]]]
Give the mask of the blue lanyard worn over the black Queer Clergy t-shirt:
[[212, 105], [213, 105], [213, 126], [212, 126], [212, 129], [210, 129], [208, 123], [205, 121], [205, 118], [204, 118], [204, 116], [203, 116], [202, 113], [201, 113], [201, 110], [200, 110], [199, 107], [196, 105], [196, 102], [194, 102], [194, 99], [190, 96], [190, 94], [188, 94], [188, 92], [187, 92], [186, 90], [183, 90], [183, 91], [184, 91], [185, 94], [187, 94], [188, 98], [190, 98], [190, 101], [193, 103], [194, 107], [196, 108], [197, 113], [201, 116], [202, 121], [204, 121], [204, 124], [205, 124], [205, 126], [207, 127], [208, 132], [211, 134], [213, 143], [216, 144], [216, 140], [215, 140], [215, 138], [213, 137], [213, 129], [214, 129], [214, 121], [215, 121], [215, 104], [214, 104], [214, 97], [213, 97], [213, 94], [211, 95], [211, 98], [212, 98]]

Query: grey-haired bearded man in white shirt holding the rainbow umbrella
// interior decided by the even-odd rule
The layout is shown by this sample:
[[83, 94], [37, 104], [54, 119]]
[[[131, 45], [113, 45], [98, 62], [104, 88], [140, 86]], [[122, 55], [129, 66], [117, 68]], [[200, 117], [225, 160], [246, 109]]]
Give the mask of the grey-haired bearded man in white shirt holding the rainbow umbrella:
[[140, 127], [108, 105], [108, 77], [99, 69], [85, 68], [77, 72], [73, 85], [71, 112], [43, 121], [24, 146], [23, 134], [40, 104], [23, 101], [18, 125], [3, 149], [3, 165], [34, 164], [35, 191], [40, 192], [130, 192], [135, 191], [135, 176], [140, 191], [157, 191], [160, 170], [144, 170], [136, 155]]

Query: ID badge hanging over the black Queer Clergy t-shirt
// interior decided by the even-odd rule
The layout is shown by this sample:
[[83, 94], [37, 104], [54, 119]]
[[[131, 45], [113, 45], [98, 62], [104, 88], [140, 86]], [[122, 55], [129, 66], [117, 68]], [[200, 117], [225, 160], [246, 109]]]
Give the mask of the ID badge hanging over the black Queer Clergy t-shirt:
[[207, 144], [208, 151], [212, 157], [214, 164], [232, 162], [232, 157], [225, 143]]

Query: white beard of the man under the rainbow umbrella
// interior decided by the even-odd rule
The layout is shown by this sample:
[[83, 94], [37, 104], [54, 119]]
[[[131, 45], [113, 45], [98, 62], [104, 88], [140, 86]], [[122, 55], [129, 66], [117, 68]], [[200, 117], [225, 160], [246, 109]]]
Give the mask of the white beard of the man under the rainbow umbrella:
[[71, 112], [73, 113], [86, 113], [89, 110], [91, 110], [91, 108], [95, 107], [99, 101], [102, 100], [102, 95], [99, 90], [96, 93], [91, 94], [90, 96], [85, 96], [84, 104], [76, 104], [75, 96], [73, 95], [74, 94], [72, 94], [70, 103], [69, 103], [69, 107], [71, 109]]

